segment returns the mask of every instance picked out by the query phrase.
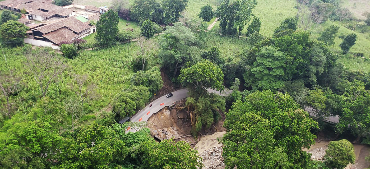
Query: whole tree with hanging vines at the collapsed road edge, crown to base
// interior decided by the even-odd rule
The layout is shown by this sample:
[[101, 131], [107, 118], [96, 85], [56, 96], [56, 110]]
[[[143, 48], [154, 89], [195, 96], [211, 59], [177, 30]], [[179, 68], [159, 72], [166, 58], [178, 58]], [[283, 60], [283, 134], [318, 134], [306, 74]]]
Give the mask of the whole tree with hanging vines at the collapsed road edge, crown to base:
[[218, 117], [217, 110], [225, 111], [225, 100], [207, 92], [210, 88], [224, 89], [222, 70], [203, 59], [191, 67], [181, 69], [178, 81], [190, 90], [186, 106], [191, 116], [192, 132], [200, 131], [203, 125], [209, 128]]

